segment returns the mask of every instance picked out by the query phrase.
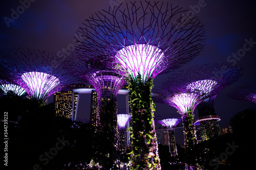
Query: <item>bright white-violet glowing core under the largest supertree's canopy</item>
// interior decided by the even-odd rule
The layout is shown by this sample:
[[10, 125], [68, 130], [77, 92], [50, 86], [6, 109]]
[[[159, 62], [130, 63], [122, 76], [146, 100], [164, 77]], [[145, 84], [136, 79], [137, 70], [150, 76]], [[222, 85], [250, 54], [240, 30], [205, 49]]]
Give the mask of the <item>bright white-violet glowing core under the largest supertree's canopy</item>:
[[124, 69], [128, 69], [130, 76], [136, 80], [141, 75], [141, 80], [145, 82], [152, 75], [153, 71], [162, 65], [165, 57], [163, 52], [154, 45], [134, 44], [123, 47], [116, 54], [116, 59]]

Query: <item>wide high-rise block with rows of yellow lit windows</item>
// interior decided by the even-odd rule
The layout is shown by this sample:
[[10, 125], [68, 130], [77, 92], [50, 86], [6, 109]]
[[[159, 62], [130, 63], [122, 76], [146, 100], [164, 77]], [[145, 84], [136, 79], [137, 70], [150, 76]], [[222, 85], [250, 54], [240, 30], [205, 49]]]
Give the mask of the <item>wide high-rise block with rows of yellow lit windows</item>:
[[54, 93], [54, 108], [56, 116], [72, 118], [76, 110], [77, 93], [73, 91], [58, 91]]

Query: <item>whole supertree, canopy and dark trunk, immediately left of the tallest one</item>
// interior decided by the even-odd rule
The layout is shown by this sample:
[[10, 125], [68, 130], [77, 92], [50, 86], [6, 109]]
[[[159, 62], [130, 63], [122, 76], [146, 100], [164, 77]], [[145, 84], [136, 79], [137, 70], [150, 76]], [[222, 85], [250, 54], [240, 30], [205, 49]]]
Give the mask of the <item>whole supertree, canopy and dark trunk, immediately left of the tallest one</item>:
[[[76, 75], [85, 83], [90, 82], [98, 96], [95, 133], [98, 143], [90, 166], [105, 169], [118, 166], [117, 94], [125, 78], [121, 71], [106, 67], [100, 60], [77, 56], [76, 53], [71, 55], [76, 56], [70, 57], [67, 62], [69, 70], [76, 71]], [[102, 142], [105, 148], [102, 148]]]

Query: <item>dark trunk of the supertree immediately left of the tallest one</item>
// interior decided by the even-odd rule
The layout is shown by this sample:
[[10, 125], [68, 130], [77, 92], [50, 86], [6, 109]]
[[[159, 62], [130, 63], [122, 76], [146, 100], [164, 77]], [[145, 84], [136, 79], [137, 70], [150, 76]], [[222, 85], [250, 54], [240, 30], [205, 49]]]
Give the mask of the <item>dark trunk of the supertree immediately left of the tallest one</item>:
[[98, 99], [96, 135], [98, 143], [93, 158], [95, 164], [98, 164], [96, 167], [118, 169], [117, 102], [111, 93]]

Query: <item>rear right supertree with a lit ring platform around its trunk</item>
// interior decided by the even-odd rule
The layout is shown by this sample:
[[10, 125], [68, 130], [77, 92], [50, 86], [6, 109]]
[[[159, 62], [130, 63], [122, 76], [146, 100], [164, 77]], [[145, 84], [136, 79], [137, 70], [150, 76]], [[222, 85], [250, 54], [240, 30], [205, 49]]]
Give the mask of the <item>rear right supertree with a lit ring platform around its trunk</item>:
[[200, 123], [201, 139], [208, 140], [219, 136], [217, 122], [220, 120], [220, 116], [216, 115], [214, 100], [224, 87], [240, 80], [243, 75], [242, 69], [228, 63], [214, 63], [190, 67], [178, 74], [181, 74], [188, 82], [189, 90], [209, 96], [197, 106], [199, 117], [195, 120], [195, 124]]

